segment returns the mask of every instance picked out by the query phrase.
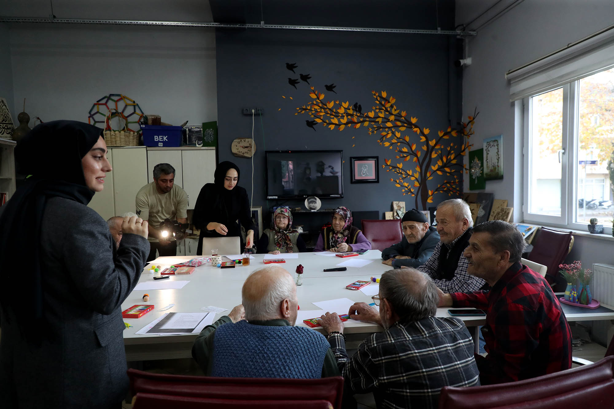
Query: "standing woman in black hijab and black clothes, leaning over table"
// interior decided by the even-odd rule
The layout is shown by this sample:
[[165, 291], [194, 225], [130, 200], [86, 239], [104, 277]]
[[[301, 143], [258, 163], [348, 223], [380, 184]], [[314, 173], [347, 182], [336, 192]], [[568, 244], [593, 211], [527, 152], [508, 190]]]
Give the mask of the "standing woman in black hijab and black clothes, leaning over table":
[[193, 224], [200, 228], [196, 254], [203, 254], [204, 237], [239, 236], [241, 240], [241, 229], [236, 220], [247, 232], [247, 244], [241, 240], [241, 249], [254, 246], [254, 222], [247, 190], [237, 185], [240, 174], [234, 163], [219, 163], [214, 183], [204, 185], [198, 193], [193, 214]]

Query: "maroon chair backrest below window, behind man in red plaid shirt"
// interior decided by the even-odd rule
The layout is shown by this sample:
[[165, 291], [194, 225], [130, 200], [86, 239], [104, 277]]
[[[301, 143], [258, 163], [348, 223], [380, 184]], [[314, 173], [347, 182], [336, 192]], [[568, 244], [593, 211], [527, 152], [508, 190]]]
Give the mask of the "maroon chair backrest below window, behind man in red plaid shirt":
[[551, 286], [556, 284], [559, 264], [569, 254], [569, 243], [571, 240], [572, 232], [561, 232], [542, 227], [531, 243], [533, 244], [533, 250], [527, 259], [546, 266], [548, 269], [546, 279], [550, 282]]

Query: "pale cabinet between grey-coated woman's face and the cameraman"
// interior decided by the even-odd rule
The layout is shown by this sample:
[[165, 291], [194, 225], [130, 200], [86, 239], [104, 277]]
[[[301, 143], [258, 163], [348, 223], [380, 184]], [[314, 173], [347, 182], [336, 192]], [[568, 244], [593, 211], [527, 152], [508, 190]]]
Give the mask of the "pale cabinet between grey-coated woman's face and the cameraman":
[[147, 150], [144, 146], [112, 147], [107, 158], [113, 170], [104, 178], [104, 189], [88, 206], [104, 220], [136, 210], [136, 193], [147, 184]]

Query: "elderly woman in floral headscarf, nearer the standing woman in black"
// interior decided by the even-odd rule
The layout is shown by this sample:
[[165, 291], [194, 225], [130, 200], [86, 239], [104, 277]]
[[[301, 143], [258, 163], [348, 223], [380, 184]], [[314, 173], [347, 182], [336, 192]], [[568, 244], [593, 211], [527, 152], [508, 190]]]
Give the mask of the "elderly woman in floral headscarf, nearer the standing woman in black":
[[267, 228], [258, 241], [258, 253], [279, 254], [305, 252], [305, 241], [292, 228], [292, 213], [286, 206], [275, 209], [271, 228]]

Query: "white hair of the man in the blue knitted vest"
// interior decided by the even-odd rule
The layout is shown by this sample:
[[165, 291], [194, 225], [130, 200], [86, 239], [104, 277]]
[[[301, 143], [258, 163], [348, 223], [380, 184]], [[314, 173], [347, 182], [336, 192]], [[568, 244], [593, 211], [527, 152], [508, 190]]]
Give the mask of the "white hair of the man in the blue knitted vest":
[[[245, 308], [245, 319], [247, 321], [266, 321], [268, 319], [274, 319], [279, 316], [279, 305], [281, 302], [286, 298], [290, 300], [293, 298], [296, 284], [286, 269], [278, 265], [267, 266], [254, 271], [252, 275], [259, 271], [268, 270], [283, 270], [286, 274], [274, 281], [268, 289], [266, 289], [266, 293], [262, 294], [260, 298], [248, 300], [244, 294], [245, 287], [243, 287], [241, 298], [243, 307]], [[243, 286], [245, 286], [245, 284], [243, 284]]]

